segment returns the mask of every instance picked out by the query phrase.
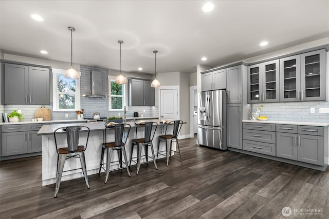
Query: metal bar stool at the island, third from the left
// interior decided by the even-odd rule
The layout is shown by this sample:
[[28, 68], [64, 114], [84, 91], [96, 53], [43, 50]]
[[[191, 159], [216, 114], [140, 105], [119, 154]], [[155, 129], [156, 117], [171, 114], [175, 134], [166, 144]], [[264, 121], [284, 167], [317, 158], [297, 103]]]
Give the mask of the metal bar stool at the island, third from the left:
[[[144, 138], [137, 138], [137, 132], [138, 132], [138, 128], [140, 126], [144, 126]], [[155, 126], [155, 129], [153, 131], [153, 135], [152, 135], [152, 127]], [[135, 135], [135, 139], [132, 140], [132, 151], [131, 151], [131, 155], [130, 155], [130, 163], [129, 163], [129, 167], [132, 164], [133, 161], [133, 150], [134, 150], [134, 146], [137, 145], [137, 163], [135, 161], [133, 161], [135, 164], [137, 164], [137, 175], [139, 173], [139, 168], [140, 168], [140, 159], [141, 159], [141, 153], [142, 153], [142, 148], [144, 146], [144, 151], [145, 151], [145, 159], [146, 162], [148, 163], [148, 157], [150, 157], [148, 155], [148, 147], [151, 146], [151, 151], [152, 151], [152, 156], [150, 158], [153, 158], [153, 163], [155, 166], [155, 169], [158, 169], [158, 167], [156, 166], [156, 161], [155, 161], [155, 155], [154, 155], [154, 149], [153, 149], [153, 144], [152, 144], [152, 140], [155, 134], [155, 131], [158, 127], [158, 124], [155, 122], [148, 122], [148, 123], [142, 123], [142, 124], [138, 124], [136, 126], [136, 135]], [[136, 157], [134, 157], [136, 158]], [[152, 162], [152, 161], [150, 161]]]

